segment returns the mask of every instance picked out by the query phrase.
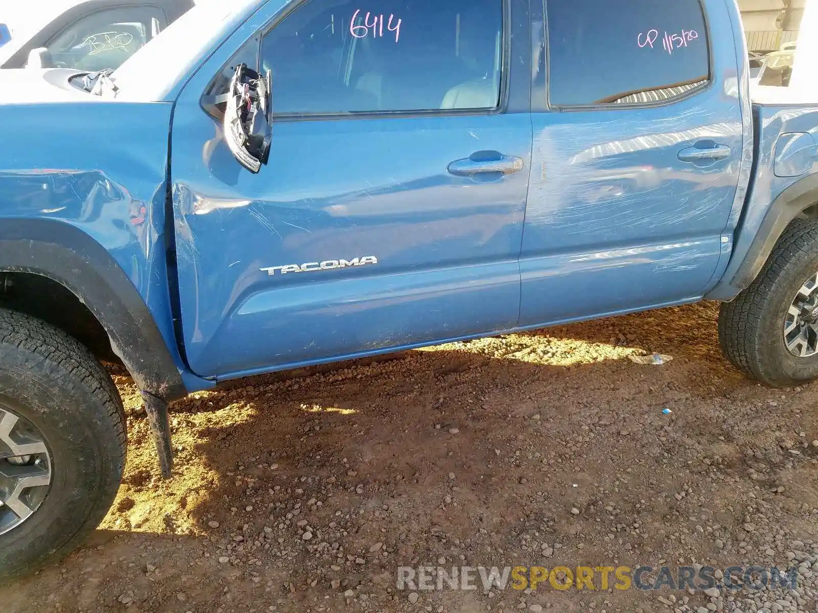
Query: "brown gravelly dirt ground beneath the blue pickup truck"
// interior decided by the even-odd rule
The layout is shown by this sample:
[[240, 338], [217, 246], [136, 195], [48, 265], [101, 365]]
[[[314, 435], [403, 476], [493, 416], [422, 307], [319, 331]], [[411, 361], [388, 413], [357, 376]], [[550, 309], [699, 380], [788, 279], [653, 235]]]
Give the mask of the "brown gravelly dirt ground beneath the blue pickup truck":
[[[170, 481], [116, 377], [114, 506], [84, 548], [0, 588], [0, 611], [747, 613], [598, 585], [396, 589], [398, 566], [798, 561], [818, 528], [818, 387], [742, 377], [716, 320], [704, 303], [232, 382], [174, 405]], [[674, 359], [627, 359], [654, 351]]]

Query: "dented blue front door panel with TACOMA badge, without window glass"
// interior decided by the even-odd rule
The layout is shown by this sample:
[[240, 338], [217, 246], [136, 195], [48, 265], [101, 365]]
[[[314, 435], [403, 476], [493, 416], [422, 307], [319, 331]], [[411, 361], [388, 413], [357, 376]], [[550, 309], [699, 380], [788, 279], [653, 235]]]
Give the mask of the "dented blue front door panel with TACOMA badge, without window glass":
[[[511, 4], [521, 35], [505, 112], [274, 120], [256, 175], [200, 96], [283, 3], [191, 79], [171, 181], [194, 372], [232, 378], [516, 325], [532, 132], [528, 3]], [[275, 114], [275, 78], [272, 90]]]

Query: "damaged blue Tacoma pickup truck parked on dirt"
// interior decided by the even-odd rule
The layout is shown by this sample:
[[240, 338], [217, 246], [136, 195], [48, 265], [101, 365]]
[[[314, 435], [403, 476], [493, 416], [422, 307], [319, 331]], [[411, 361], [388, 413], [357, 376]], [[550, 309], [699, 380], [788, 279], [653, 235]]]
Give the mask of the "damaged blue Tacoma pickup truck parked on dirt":
[[702, 299], [818, 376], [818, 104], [733, 0], [244, 0], [119, 69], [0, 71], [0, 576], [114, 498], [121, 400]]

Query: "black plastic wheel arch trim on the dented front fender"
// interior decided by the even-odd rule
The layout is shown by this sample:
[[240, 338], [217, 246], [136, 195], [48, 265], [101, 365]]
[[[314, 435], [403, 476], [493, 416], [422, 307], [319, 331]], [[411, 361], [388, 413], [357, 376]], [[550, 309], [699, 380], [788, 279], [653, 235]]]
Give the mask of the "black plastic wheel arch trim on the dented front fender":
[[42, 275], [68, 289], [105, 330], [110, 348], [143, 392], [162, 400], [187, 393], [151, 311], [106, 248], [61, 221], [3, 219], [0, 273]]

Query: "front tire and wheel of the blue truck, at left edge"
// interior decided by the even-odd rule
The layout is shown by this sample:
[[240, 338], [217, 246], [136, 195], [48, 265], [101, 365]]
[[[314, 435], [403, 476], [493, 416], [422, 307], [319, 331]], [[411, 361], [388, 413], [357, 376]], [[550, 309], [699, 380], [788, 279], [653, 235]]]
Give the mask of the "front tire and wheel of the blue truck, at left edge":
[[[65, 556], [99, 525], [119, 488], [126, 450], [122, 400], [94, 356], [60, 329], [0, 309], [0, 426], [4, 418], [6, 430], [12, 422], [15, 429], [4, 443], [0, 427], [0, 458], [4, 447], [6, 456], [15, 451], [8, 441], [36, 440], [26, 449], [40, 453], [0, 459], [0, 500], [5, 474], [9, 503], [0, 506], [0, 583]], [[20, 470], [39, 471], [41, 481], [48, 472], [50, 482], [15, 498], [8, 475], [18, 475], [18, 492]], [[21, 499], [29, 510], [12, 515]]]

